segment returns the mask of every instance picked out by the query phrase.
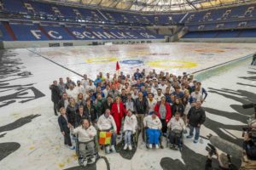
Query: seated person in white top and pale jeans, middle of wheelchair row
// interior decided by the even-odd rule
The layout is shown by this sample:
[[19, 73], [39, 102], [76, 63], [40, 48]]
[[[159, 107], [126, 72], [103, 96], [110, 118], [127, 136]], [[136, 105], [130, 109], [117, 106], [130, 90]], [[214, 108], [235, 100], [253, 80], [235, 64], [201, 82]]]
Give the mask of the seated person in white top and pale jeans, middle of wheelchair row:
[[128, 110], [127, 116], [125, 116], [124, 132], [125, 132], [125, 147], [124, 150], [132, 150], [131, 135], [136, 133], [137, 117], [132, 114], [131, 110]]

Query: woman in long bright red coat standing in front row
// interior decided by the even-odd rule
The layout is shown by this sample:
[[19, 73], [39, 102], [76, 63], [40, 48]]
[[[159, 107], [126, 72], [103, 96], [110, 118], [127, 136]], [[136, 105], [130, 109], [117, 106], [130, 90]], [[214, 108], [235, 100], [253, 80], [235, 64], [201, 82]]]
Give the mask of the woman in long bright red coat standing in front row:
[[111, 115], [117, 127], [117, 133], [119, 134], [122, 124], [122, 119], [126, 114], [125, 105], [121, 102], [119, 97], [115, 98], [115, 102], [111, 107]]

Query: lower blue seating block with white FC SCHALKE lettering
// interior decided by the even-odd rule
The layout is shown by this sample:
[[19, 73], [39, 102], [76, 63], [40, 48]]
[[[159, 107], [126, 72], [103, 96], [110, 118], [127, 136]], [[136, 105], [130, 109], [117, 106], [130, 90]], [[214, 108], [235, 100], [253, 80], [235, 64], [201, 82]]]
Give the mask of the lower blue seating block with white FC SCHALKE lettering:
[[164, 39], [147, 29], [134, 27], [54, 26], [1, 22], [0, 41]]

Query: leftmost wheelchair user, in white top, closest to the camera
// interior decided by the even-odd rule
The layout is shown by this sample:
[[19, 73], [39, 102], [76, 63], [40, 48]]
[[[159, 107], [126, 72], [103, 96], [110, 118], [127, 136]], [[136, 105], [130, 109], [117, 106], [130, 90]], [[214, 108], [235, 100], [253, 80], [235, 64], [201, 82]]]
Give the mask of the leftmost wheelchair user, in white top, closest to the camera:
[[79, 160], [87, 160], [89, 158], [88, 164], [94, 163], [96, 161], [95, 127], [90, 125], [87, 119], [83, 119], [79, 127], [74, 128], [70, 125], [70, 131], [78, 136]]

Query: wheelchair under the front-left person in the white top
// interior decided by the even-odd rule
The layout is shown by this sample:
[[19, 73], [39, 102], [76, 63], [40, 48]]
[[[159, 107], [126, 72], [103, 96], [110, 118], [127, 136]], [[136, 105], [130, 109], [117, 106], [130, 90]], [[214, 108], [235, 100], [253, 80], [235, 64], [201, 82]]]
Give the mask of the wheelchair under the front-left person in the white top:
[[[79, 145], [80, 144], [88, 144], [89, 142], [93, 141], [95, 144], [95, 152], [93, 154], [88, 153], [87, 148], [85, 150], [87, 150], [86, 156], [84, 157], [81, 153], [80, 153], [80, 148]], [[96, 163], [96, 161], [98, 159], [100, 159], [101, 156], [99, 156], [98, 153], [98, 144], [97, 144], [97, 137], [95, 136], [93, 140], [91, 140], [89, 142], [79, 142], [79, 135], [77, 135], [76, 138], [76, 155], [79, 157], [79, 165], [81, 167], [86, 167], [87, 164], [93, 164]], [[86, 146], [87, 147], [87, 146]], [[94, 161], [93, 161], [94, 160]]]

